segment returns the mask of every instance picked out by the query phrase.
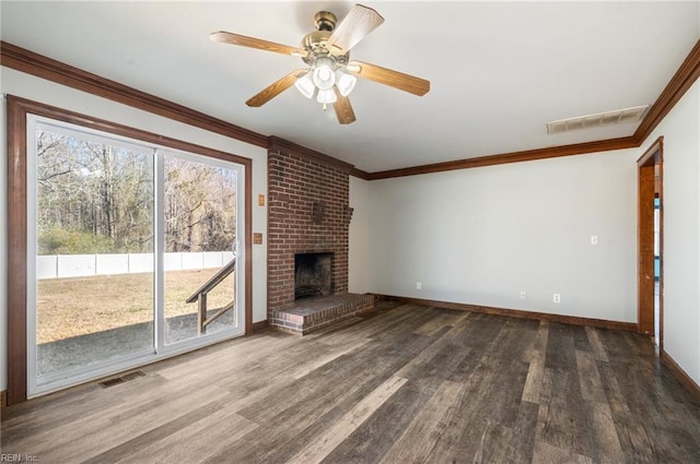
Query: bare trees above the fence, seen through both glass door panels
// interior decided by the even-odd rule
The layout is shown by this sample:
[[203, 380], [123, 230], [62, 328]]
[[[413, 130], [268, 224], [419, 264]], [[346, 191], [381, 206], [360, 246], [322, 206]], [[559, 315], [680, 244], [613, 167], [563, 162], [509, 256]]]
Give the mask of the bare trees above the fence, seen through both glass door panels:
[[[37, 130], [37, 254], [153, 251], [153, 152]], [[165, 251], [230, 251], [235, 171], [165, 157]]]

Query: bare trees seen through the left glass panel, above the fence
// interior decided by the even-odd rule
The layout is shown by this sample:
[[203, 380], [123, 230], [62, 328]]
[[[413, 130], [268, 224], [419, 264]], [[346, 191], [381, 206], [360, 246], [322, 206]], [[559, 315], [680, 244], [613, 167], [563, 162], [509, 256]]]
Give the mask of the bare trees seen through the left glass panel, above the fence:
[[153, 154], [37, 131], [37, 253], [153, 251]]

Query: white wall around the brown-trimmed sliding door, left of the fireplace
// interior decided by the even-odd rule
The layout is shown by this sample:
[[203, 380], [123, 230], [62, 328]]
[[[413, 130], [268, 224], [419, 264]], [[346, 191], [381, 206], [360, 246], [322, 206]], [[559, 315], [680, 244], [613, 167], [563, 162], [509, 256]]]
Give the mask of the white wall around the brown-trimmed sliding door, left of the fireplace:
[[[85, 94], [49, 81], [45, 81], [19, 71], [1, 68], [0, 92], [11, 94], [48, 105], [82, 112], [113, 122], [136, 127], [173, 139], [208, 146], [222, 152], [232, 153], [253, 159], [253, 195], [267, 197], [267, 151], [241, 141], [151, 115], [132, 107], [120, 105], [94, 95]], [[0, 219], [7, 224], [7, 131], [4, 123], [5, 102], [0, 110], [2, 118], [0, 132]], [[253, 203], [253, 230], [267, 236], [267, 209]], [[0, 229], [0, 249], [7, 249], [7, 230]], [[7, 254], [5, 254], [7, 255]], [[267, 319], [267, 247], [253, 246], [253, 321]], [[0, 390], [7, 388], [7, 259], [0, 266]]]

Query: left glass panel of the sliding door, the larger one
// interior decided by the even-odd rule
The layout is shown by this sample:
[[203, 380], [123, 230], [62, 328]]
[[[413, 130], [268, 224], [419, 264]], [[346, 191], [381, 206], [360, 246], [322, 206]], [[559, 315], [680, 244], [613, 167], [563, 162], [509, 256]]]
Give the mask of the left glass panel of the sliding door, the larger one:
[[[35, 383], [153, 353], [153, 152], [37, 123]], [[32, 210], [32, 209], [31, 209]]]

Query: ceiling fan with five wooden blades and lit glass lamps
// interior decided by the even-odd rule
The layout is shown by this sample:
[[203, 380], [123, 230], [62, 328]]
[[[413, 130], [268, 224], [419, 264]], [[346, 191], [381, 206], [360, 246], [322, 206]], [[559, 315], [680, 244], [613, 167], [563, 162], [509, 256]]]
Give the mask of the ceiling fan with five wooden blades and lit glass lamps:
[[328, 104], [332, 104], [338, 122], [349, 124], [355, 120], [348, 98], [357, 83], [355, 76], [418, 96], [425, 95], [430, 90], [430, 82], [424, 79], [376, 64], [350, 60], [350, 49], [384, 22], [384, 17], [375, 10], [355, 4], [339, 24], [336, 15], [328, 11], [316, 13], [314, 21], [316, 31], [303, 38], [301, 47], [223, 31], [210, 35], [213, 41], [300, 57], [308, 66], [284, 75], [249, 98], [246, 105], [262, 106], [294, 85], [307, 98], [313, 98], [315, 95], [324, 109]]

